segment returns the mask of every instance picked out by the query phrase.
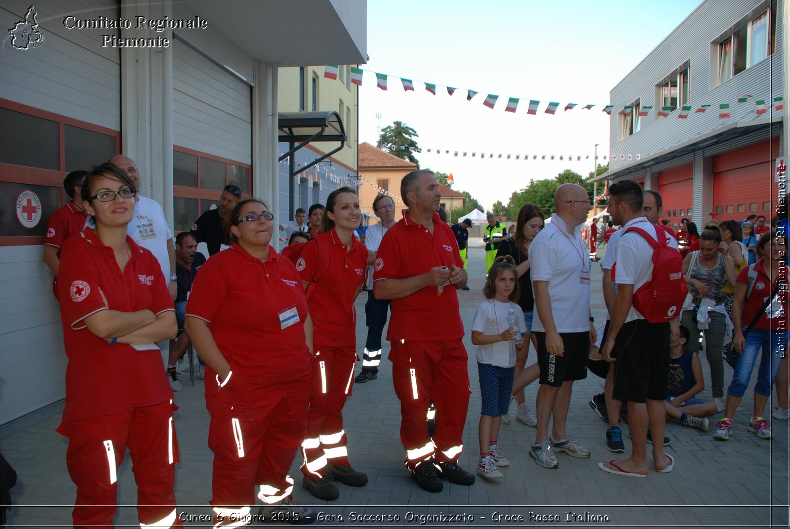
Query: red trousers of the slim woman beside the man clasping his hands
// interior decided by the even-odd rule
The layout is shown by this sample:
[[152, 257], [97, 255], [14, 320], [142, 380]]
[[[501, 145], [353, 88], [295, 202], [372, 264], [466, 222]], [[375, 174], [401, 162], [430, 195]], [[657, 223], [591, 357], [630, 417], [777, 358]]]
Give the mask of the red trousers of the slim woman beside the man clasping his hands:
[[302, 443], [307, 478], [323, 478], [326, 464], [349, 466], [343, 429], [343, 406], [354, 384], [356, 346], [315, 346], [313, 383], [310, 387], [310, 415]]

